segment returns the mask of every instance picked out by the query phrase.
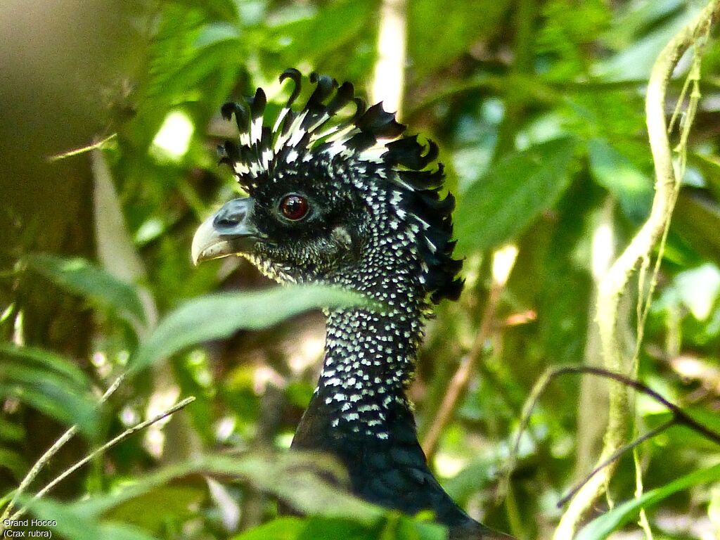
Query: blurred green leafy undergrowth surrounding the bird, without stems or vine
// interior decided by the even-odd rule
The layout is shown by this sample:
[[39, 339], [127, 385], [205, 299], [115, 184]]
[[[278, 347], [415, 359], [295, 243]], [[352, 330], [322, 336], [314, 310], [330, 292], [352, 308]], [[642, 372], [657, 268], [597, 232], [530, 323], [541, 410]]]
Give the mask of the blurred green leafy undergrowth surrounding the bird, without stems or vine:
[[[552, 385], [499, 505], [498, 472], [545, 367], [597, 361], [598, 268], [626, 245], [652, 199], [644, 82], [698, 3], [418, 0], [406, 9], [402, 120], [441, 146], [458, 198], [467, 279], [461, 300], [438, 307], [428, 323], [412, 389], [418, 428], [427, 432], [472, 345], [492, 287], [492, 251], [514, 243], [518, 257], [491, 336], [432, 464], [472, 516], [522, 539], [549, 538], [562, 513], [555, 503], [593, 466], [603, 384]], [[378, 1], [357, 0], [9, 0], [0, 7], [7, 68], [0, 86], [0, 505], [73, 423], [80, 438], [31, 492], [179, 395], [194, 395], [168, 423], [109, 449], [32, 511], [58, 521], [53, 534], [72, 540], [444, 536], [428, 516], [346, 500], [322, 474], [297, 483], [298, 467], [266, 457], [282, 456], [310, 400], [323, 320], [298, 314], [324, 305], [328, 292], [189, 301], [268, 286], [237, 260], [190, 263], [199, 221], [237, 189], [217, 166], [214, 146], [233, 134], [220, 105], [264, 86], [276, 108], [277, 76], [290, 66], [369, 87], [378, 13]], [[672, 98], [687, 68], [681, 60]], [[717, 428], [718, 42], [708, 45], [702, 71], [639, 377]], [[48, 161], [112, 134], [102, 153]], [[114, 189], [99, 189], [108, 175]], [[629, 343], [633, 305], [629, 294]], [[134, 374], [97, 409], [98, 396], [133, 362]], [[634, 402], [639, 431], [667, 420], [654, 402]], [[243, 454], [217, 455], [229, 449]], [[202, 464], [192, 461], [199, 455]], [[642, 502], [655, 539], [720, 535], [719, 458], [718, 448], [684, 428], [643, 444]], [[598, 508], [582, 539], [635, 531], [634, 490], [625, 456], [611, 484], [619, 504]], [[278, 517], [278, 497], [311, 516]]]

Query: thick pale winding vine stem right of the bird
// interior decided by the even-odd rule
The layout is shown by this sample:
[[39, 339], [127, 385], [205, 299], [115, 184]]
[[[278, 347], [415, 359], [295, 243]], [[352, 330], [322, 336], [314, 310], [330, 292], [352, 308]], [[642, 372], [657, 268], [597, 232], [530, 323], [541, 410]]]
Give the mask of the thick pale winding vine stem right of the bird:
[[[693, 21], [683, 27], [665, 45], [655, 60], [647, 85], [645, 114], [647, 130], [655, 166], [655, 195], [647, 221], [636, 233], [629, 246], [617, 258], [600, 283], [598, 292], [598, 330], [603, 364], [613, 372], [624, 372], [624, 354], [618, 338], [618, 307], [630, 276], [639, 262], [649, 258], [652, 249], [665, 235], [675, 206], [675, 193], [679, 179], [672, 165], [672, 150], [665, 118], [667, 84], [676, 63], [698, 35], [704, 32], [720, 12], [720, 0], [712, 0]], [[661, 256], [661, 255], [660, 255]], [[598, 464], [606, 462], [621, 448], [628, 425], [626, 394], [618, 383], [609, 385], [608, 426]], [[572, 539], [577, 524], [606, 492], [616, 462], [600, 469], [572, 498], [554, 533], [555, 540]]]

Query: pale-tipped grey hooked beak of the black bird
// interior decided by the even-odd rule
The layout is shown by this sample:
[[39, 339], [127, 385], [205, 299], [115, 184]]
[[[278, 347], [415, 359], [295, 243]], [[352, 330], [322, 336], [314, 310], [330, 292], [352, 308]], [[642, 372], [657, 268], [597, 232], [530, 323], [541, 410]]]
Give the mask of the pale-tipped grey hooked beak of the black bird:
[[251, 197], [233, 199], [208, 217], [192, 239], [193, 263], [249, 253], [258, 240], [258, 230], [249, 219], [254, 203]]

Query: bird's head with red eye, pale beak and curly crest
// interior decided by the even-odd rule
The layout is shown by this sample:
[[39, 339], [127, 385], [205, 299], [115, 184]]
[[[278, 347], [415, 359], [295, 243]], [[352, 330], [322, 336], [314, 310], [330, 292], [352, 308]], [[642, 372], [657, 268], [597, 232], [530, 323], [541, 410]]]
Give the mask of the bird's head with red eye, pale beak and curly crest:
[[240, 133], [219, 147], [220, 161], [249, 197], [200, 226], [195, 263], [239, 255], [281, 282], [369, 294], [395, 282], [433, 302], [455, 299], [462, 261], [452, 258], [454, 198], [439, 196], [437, 146], [405, 135], [382, 104], [366, 108], [352, 84], [327, 76], [310, 76], [312, 95], [295, 110], [302, 76], [289, 69], [286, 79], [294, 87], [272, 126], [262, 89], [222, 107]]

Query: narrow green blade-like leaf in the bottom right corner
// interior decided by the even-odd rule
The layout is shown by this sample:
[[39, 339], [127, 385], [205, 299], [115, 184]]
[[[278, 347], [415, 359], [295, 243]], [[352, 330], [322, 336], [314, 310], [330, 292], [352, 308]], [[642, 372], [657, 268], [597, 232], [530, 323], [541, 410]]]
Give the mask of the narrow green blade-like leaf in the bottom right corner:
[[582, 528], [580, 534], [575, 540], [602, 540], [608, 537], [613, 531], [624, 526], [626, 523], [636, 519], [642, 508], [651, 508], [653, 505], [669, 497], [678, 491], [687, 490], [694, 485], [706, 482], [717, 482], [720, 480], [720, 464], [703, 469], [701, 471], [692, 472], [684, 477], [678, 478], [673, 482], [657, 489], [645, 492], [642, 497], [632, 499], [616, 506], [608, 513], [595, 518]]

